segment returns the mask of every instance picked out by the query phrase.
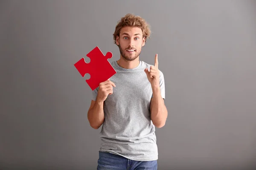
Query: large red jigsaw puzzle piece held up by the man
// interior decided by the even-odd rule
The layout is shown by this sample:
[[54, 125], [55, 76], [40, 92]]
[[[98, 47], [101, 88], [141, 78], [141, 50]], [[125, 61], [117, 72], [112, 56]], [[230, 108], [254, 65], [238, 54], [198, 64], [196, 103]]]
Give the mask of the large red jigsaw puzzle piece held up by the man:
[[102, 53], [99, 47], [95, 47], [87, 55], [90, 58], [90, 62], [87, 63], [84, 57], [81, 58], [74, 65], [79, 71], [82, 77], [85, 74], [90, 74], [90, 79], [85, 80], [92, 90], [99, 87], [99, 83], [105, 82], [114, 74], [116, 74], [115, 69], [112, 67], [108, 59], [112, 57], [111, 52], [107, 52], [106, 56]]

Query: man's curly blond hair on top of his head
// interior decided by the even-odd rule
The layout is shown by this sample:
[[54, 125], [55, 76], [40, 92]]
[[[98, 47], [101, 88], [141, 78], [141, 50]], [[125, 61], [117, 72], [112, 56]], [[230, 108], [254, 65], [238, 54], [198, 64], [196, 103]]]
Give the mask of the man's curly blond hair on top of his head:
[[116, 25], [116, 29], [113, 34], [115, 44], [116, 36], [119, 36], [120, 30], [125, 26], [134, 26], [141, 28], [143, 37], [145, 37], [145, 42], [150, 38], [150, 25], [140, 16], [135, 16], [134, 14], [126, 14], [124, 17], [121, 18], [121, 20], [118, 21]]

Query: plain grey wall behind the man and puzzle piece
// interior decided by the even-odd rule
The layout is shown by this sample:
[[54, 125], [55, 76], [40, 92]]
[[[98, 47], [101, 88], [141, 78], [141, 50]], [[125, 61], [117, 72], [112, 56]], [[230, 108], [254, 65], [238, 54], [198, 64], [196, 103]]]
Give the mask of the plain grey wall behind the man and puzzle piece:
[[159, 169], [256, 167], [256, 1], [1, 0], [1, 170], [96, 169], [90, 76], [73, 64], [96, 46], [119, 59], [127, 13], [150, 23], [140, 59], [157, 53], [165, 75]]

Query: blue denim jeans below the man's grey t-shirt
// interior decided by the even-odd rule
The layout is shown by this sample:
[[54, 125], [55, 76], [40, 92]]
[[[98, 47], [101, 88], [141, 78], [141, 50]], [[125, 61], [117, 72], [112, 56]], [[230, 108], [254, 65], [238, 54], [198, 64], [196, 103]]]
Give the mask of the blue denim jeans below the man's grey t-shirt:
[[155, 161], [133, 161], [107, 152], [99, 152], [97, 170], [157, 170]]

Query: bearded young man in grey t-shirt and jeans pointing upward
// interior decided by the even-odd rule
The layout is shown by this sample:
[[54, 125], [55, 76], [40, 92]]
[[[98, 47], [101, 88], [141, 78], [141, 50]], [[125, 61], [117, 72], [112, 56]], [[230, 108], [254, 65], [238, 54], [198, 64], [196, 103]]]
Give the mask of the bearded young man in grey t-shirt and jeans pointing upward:
[[93, 91], [90, 126], [102, 125], [97, 170], [157, 169], [155, 127], [167, 118], [163, 73], [139, 59], [150, 29], [139, 16], [127, 14], [116, 25], [114, 42], [120, 59], [111, 62], [116, 74]]

